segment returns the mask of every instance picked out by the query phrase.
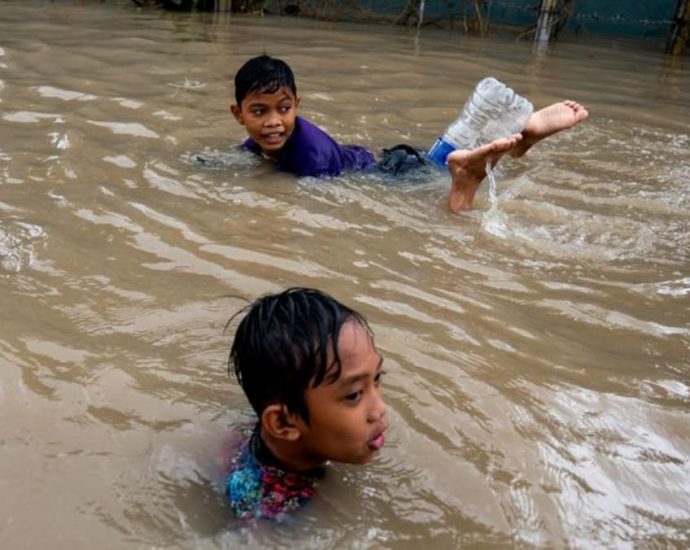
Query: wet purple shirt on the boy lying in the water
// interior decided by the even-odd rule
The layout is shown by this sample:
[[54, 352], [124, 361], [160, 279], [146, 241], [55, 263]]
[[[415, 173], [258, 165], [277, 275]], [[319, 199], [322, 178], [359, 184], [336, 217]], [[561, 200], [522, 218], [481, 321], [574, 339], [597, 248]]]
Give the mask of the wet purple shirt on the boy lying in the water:
[[[261, 152], [251, 138], [242, 147]], [[321, 128], [302, 117], [295, 119], [295, 129], [275, 160], [279, 170], [300, 177], [339, 176], [343, 172], [369, 170], [376, 164], [374, 155], [364, 147], [339, 145]]]

